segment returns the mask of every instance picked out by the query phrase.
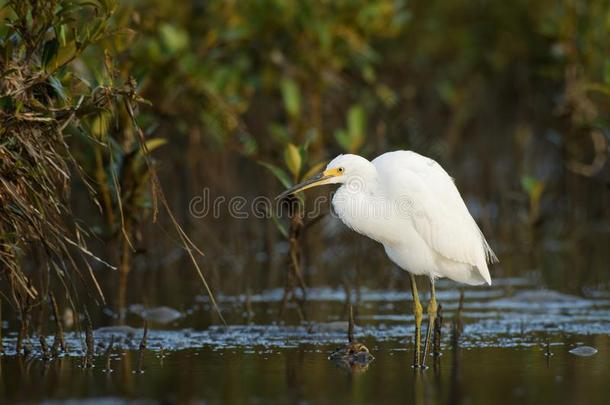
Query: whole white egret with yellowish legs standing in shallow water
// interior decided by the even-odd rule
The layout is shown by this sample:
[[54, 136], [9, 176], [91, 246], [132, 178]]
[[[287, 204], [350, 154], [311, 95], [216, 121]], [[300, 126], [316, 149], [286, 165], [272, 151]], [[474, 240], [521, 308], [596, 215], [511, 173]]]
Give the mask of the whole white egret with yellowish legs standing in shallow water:
[[[435, 279], [447, 277], [470, 285], [491, 285], [487, 265], [498, 259], [453, 179], [433, 159], [412, 151], [384, 153], [373, 161], [357, 155], [339, 155], [322, 173], [278, 198], [323, 184], [341, 184], [332, 205], [345, 225], [381, 243], [390, 260], [409, 272], [416, 321], [414, 366], [425, 367], [438, 309]], [[423, 361], [423, 309], [415, 275], [430, 278]]]

